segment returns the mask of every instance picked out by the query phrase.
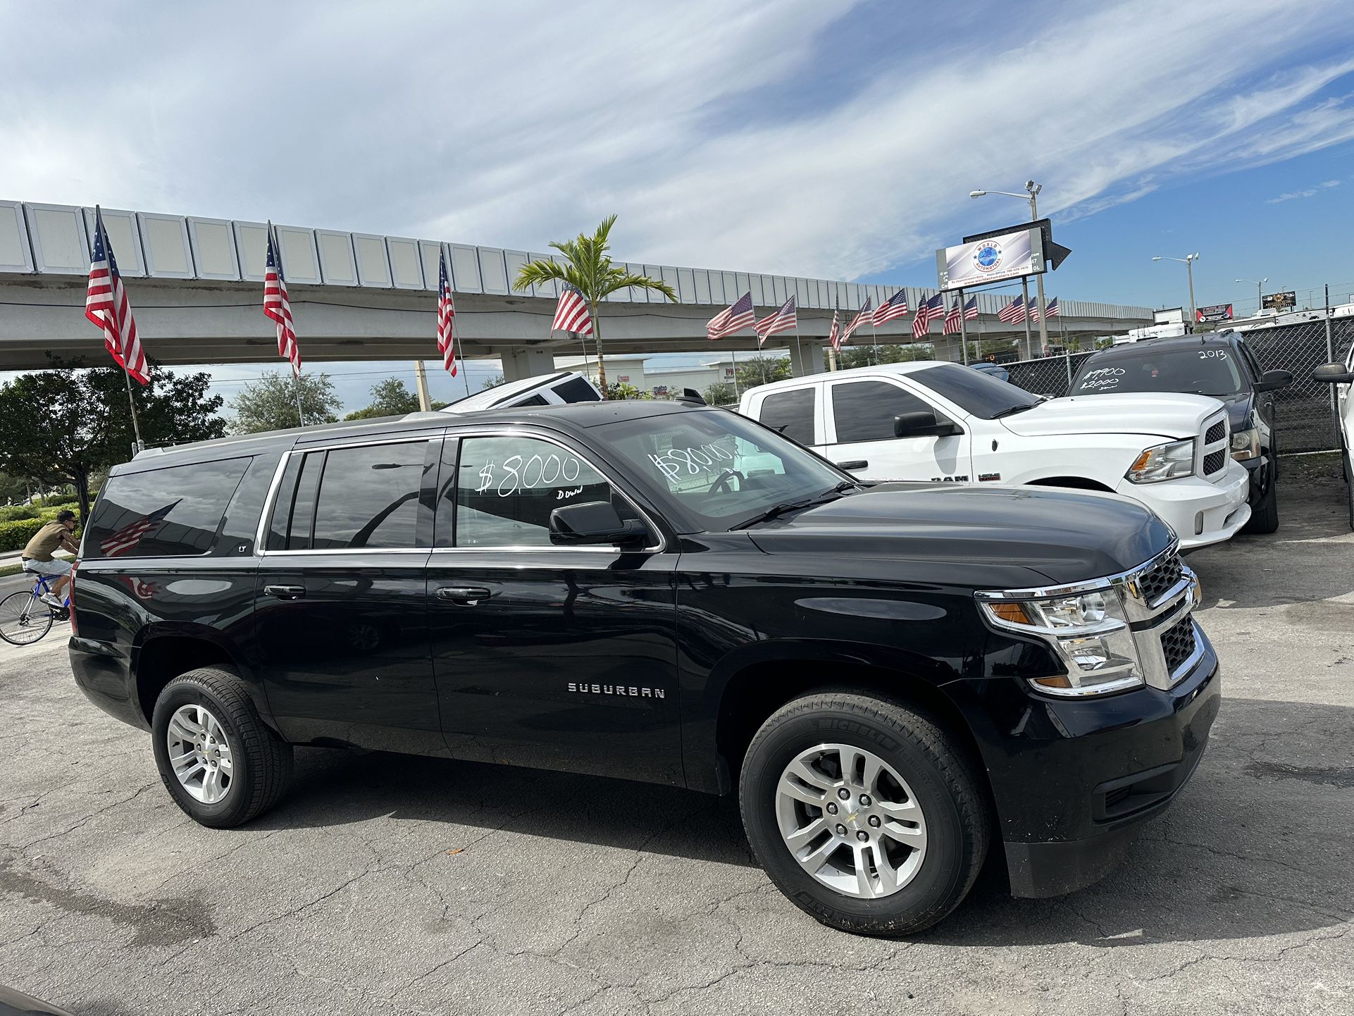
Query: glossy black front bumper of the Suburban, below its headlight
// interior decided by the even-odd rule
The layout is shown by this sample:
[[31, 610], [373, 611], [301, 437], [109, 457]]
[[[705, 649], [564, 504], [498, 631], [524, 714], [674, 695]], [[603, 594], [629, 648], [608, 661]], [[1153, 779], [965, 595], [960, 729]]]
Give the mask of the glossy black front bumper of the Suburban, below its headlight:
[[1170, 691], [1051, 700], [1010, 679], [945, 685], [987, 765], [1013, 895], [1095, 882], [1189, 782], [1223, 683], [1212, 643], [1196, 637], [1202, 652]]

